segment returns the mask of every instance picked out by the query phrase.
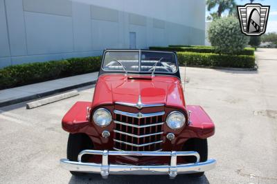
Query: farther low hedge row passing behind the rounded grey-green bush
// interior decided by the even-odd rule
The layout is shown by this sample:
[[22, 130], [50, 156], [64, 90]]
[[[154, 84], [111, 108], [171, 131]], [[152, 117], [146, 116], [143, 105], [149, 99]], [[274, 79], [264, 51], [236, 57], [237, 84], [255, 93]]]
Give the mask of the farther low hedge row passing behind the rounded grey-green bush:
[[[167, 51], [176, 51], [176, 52], [200, 52], [200, 53], [215, 53], [215, 48], [208, 46], [189, 46], [189, 47], [150, 47], [150, 50], [167, 50]], [[244, 48], [244, 50], [238, 54], [240, 55], [254, 55], [254, 48]]]

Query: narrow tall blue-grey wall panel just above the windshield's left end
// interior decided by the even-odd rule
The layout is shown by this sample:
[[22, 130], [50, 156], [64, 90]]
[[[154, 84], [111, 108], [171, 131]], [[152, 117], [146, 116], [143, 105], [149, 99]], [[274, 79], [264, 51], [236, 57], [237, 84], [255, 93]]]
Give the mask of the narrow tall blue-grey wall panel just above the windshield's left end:
[[84, 3], [72, 2], [74, 51], [92, 50], [91, 9]]

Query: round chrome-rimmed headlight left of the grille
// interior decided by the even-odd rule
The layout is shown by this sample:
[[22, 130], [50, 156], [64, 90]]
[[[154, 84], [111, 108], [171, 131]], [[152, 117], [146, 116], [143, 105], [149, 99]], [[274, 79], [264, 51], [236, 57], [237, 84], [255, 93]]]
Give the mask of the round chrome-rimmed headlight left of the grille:
[[111, 112], [104, 108], [100, 108], [94, 112], [93, 121], [96, 125], [105, 127], [111, 123]]

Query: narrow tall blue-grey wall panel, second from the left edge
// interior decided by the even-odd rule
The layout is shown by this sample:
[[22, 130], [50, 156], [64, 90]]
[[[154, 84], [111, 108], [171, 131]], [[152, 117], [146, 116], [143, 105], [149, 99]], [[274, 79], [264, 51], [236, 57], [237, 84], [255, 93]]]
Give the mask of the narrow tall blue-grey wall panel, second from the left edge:
[[8, 0], [5, 2], [11, 54], [12, 56], [26, 55], [26, 32], [22, 0]]

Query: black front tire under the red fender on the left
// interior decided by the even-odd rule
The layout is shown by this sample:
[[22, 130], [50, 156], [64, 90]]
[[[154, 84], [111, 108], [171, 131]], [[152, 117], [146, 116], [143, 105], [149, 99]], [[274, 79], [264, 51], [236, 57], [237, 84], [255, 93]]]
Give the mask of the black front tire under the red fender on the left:
[[[69, 139], [67, 141], [67, 159], [69, 161], [78, 161], [78, 154], [82, 150], [93, 149], [93, 144], [86, 134], [69, 134]], [[82, 162], [89, 160], [89, 155], [82, 156]], [[74, 176], [82, 176], [86, 173], [70, 171]]]

